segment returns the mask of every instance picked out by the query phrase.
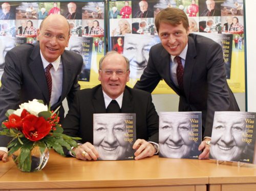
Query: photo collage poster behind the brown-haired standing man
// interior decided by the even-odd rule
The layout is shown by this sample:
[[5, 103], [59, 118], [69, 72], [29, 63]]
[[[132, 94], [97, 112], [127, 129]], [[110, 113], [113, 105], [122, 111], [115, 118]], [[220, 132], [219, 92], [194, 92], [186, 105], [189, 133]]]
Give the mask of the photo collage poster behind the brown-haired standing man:
[[[155, 17], [167, 7], [182, 9], [189, 20], [189, 32], [215, 40], [223, 47], [226, 77], [233, 92], [245, 92], [243, 0], [147, 0], [110, 1], [109, 51], [130, 60], [133, 87], [147, 65], [151, 46], [160, 42]], [[211, 10], [211, 11], [209, 11]], [[160, 81], [153, 93], [174, 93]]]

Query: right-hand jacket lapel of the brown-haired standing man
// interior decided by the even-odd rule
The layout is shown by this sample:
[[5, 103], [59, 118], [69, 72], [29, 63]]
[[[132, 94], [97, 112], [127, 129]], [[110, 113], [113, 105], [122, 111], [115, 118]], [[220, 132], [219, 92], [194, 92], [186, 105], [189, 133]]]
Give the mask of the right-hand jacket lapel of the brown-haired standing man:
[[184, 76], [183, 76], [183, 87], [186, 98], [189, 99], [189, 87], [191, 83], [191, 78], [193, 74], [193, 69], [196, 64], [196, 46], [193, 38], [188, 36], [188, 47], [187, 47], [187, 54], [186, 54], [186, 61], [185, 61], [185, 68], [184, 68]]

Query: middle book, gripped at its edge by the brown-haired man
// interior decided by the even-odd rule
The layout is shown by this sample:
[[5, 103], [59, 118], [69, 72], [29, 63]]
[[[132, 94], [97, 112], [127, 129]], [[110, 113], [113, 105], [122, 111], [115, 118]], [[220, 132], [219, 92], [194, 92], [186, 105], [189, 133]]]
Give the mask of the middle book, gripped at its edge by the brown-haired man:
[[197, 159], [201, 151], [202, 112], [159, 113], [159, 156]]

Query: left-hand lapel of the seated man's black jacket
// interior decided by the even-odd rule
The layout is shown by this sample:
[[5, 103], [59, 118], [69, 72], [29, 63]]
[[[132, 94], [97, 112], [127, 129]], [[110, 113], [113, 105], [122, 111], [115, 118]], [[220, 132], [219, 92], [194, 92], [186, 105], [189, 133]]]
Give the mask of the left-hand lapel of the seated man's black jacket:
[[[103, 92], [102, 92], [102, 87], [101, 85], [98, 85], [94, 88], [94, 99], [93, 101], [93, 106], [94, 106], [94, 113], [105, 113], [106, 108], [105, 108], [105, 102], [104, 102], [104, 97], [103, 97]], [[86, 98], [84, 98], [86, 99]]]

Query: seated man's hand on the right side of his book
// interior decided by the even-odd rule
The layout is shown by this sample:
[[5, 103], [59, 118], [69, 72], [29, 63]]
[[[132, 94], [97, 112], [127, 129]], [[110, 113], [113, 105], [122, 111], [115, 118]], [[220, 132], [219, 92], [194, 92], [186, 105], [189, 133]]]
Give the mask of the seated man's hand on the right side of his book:
[[133, 145], [133, 149], [136, 149], [136, 152], [134, 153], [135, 160], [153, 156], [157, 152], [155, 147], [144, 139], [137, 139]]

